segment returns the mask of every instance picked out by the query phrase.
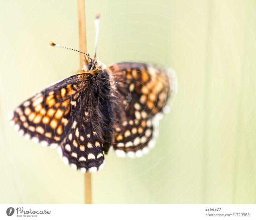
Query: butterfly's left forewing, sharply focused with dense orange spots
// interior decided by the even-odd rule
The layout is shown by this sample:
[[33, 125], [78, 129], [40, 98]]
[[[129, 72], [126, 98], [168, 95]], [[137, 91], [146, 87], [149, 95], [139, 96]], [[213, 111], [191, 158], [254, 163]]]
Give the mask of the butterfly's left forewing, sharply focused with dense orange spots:
[[80, 107], [85, 81], [85, 74], [77, 74], [38, 92], [9, 113], [11, 124], [26, 138], [56, 147]]

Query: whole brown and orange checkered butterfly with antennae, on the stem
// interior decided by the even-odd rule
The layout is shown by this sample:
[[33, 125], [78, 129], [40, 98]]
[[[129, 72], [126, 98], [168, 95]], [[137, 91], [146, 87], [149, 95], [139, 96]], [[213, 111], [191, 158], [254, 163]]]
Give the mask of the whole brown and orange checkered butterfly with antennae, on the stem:
[[57, 148], [66, 165], [82, 172], [102, 169], [109, 148], [120, 157], [147, 154], [155, 144], [159, 115], [177, 91], [172, 69], [101, 63], [96, 57], [99, 17], [95, 27], [94, 57], [71, 49], [84, 54], [81, 73], [46, 87], [8, 115], [21, 135]]

